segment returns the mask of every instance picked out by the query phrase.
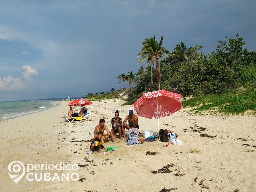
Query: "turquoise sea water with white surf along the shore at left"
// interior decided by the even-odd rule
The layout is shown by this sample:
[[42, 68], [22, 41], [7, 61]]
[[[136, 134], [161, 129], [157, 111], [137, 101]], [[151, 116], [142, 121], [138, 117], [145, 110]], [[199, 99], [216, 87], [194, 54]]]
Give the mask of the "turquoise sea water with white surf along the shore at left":
[[63, 99], [21, 100], [0, 102], [0, 121], [47, 110]]

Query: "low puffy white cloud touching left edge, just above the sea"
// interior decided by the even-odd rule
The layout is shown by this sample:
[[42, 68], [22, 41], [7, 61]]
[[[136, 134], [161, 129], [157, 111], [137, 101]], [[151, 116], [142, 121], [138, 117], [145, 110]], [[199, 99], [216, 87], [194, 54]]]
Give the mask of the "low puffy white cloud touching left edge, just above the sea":
[[20, 78], [13, 78], [10, 75], [8, 75], [7, 78], [3, 77], [1, 79], [0, 77], [0, 90], [2, 91], [7, 91], [7, 90], [18, 91], [23, 87], [24, 87], [24, 83]]

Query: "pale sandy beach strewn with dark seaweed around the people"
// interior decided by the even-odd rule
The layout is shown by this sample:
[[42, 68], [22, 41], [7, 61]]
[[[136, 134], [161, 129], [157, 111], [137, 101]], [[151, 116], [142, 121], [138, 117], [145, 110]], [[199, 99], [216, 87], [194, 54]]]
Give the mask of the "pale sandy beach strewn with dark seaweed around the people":
[[[91, 120], [68, 123], [59, 117], [67, 114], [68, 103], [61, 102], [60, 106], [43, 112], [0, 122], [0, 191], [256, 190], [255, 115], [197, 116], [183, 108], [159, 119], [160, 128], [175, 131], [183, 141], [181, 145], [163, 147], [166, 143], [155, 141], [129, 146], [121, 140], [104, 144], [105, 147], [118, 147], [108, 155], [103, 152], [89, 155], [90, 140], [99, 120], [105, 119], [111, 129], [114, 112], [119, 110], [119, 117], [124, 120], [133, 106], [121, 106], [121, 99], [94, 101], [87, 106], [88, 112], [92, 112]], [[74, 107], [77, 112], [79, 109]], [[138, 119], [141, 133], [143, 130], [158, 131], [156, 119]], [[13, 161], [25, 165], [25, 174], [17, 183], [8, 174], [19, 174], [8, 169]], [[49, 168], [49, 164], [60, 162], [78, 166], [73, 167], [76, 170], [63, 170], [66, 167], [63, 165], [62, 170], [39, 170], [35, 166], [47, 164]], [[29, 175], [28, 164], [31, 165]], [[51, 175], [50, 180], [46, 172]], [[61, 178], [58, 181], [57, 176], [53, 179], [53, 175], [69, 173], [70, 176], [74, 172], [74, 180], [79, 175], [77, 181], [71, 177], [69, 181]], [[38, 173], [37, 178], [35, 173]]]

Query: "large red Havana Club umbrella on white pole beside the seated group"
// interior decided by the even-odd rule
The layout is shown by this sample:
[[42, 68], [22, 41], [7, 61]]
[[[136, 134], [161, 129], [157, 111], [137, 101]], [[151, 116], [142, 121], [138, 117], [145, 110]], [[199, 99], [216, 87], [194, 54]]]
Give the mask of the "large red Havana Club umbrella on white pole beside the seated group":
[[182, 109], [180, 94], [166, 90], [143, 93], [142, 96], [133, 104], [134, 110], [138, 116], [152, 119], [153, 116], [158, 122], [159, 134], [159, 117], [170, 116]]

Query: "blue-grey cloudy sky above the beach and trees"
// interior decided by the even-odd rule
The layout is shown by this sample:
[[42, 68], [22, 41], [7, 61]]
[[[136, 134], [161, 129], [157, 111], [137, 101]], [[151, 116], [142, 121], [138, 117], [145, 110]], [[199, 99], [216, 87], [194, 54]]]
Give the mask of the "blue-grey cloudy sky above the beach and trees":
[[146, 65], [136, 56], [153, 35], [207, 55], [238, 33], [256, 51], [255, 28], [255, 0], [1, 0], [0, 101], [119, 90], [119, 75]]

